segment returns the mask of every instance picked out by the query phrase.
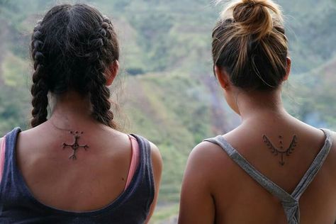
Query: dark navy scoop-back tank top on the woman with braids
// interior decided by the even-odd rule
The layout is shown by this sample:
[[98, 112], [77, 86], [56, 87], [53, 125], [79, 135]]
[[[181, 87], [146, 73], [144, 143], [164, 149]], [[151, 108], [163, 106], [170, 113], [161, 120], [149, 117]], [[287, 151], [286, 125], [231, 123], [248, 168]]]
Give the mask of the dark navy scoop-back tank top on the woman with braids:
[[155, 194], [150, 143], [145, 138], [132, 135], [138, 141], [140, 160], [127, 189], [104, 208], [72, 212], [45, 206], [30, 193], [16, 164], [16, 140], [20, 132], [20, 128], [15, 128], [5, 138], [0, 223], [145, 223]]

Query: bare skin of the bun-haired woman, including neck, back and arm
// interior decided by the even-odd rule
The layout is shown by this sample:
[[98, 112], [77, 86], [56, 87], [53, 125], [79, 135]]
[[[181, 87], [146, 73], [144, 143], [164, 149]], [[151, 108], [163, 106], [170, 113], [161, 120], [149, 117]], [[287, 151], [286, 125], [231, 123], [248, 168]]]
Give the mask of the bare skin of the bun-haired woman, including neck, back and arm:
[[[284, 81], [290, 72], [290, 60]], [[289, 115], [281, 101], [281, 86], [274, 91], [242, 91], [230, 83], [224, 69], [215, 68], [226, 101], [242, 123], [223, 135], [230, 145], [267, 178], [291, 193], [325, 143], [319, 129]], [[262, 141], [262, 135], [288, 147], [293, 135], [298, 145], [285, 157], [284, 167]], [[333, 224], [336, 220], [336, 134], [315, 179], [300, 199], [301, 223]], [[259, 186], [218, 146], [201, 142], [189, 156], [181, 189], [179, 223], [286, 223], [277, 198]]]

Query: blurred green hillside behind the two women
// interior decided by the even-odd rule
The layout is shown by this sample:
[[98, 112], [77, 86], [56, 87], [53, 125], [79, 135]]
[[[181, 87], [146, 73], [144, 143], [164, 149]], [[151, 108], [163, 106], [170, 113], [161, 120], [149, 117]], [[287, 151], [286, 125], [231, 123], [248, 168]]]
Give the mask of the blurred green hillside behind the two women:
[[[29, 128], [30, 33], [55, 4], [87, 3], [111, 18], [121, 74], [111, 87], [118, 123], [159, 147], [164, 172], [151, 223], [176, 223], [187, 156], [204, 138], [240, 120], [225, 103], [211, 64], [211, 30], [222, 6], [211, 0], [0, 0], [0, 135]], [[293, 69], [286, 108], [336, 130], [336, 0], [277, 0], [286, 16]]]

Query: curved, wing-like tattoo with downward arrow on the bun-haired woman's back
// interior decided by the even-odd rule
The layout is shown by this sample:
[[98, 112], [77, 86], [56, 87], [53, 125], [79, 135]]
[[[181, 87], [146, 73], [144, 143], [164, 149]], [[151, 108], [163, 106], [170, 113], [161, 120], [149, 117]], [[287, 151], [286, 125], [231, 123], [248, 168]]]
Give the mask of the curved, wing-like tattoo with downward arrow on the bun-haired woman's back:
[[296, 147], [297, 142], [298, 142], [298, 137], [296, 135], [294, 135], [293, 140], [291, 140], [291, 145], [289, 145], [289, 147], [286, 150], [284, 150], [284, 142], [283, 142], [283, 137], [281, 135], [279, 135], [280, 149], [274, 147], [274, 145], [271, 143], [271, 141], [269, 140], [269, 138], [267, 138], [266, 135], [263, 135], [262, 139], [264, 140], [267, 147], [269, 147], [269, 150], [271, 150], [272, 154], [274, 154], [275, 156], [277, 156], [279, 154], [281, 155], [281, 161], [279, 161], [279, 164], [281, 166], [284, 166], [284, 164], [285, 164], [284, 155], [289, 157], [289, 155], [291, 155], [293, 153], [293, 150], [295, 150], [295, 147]]

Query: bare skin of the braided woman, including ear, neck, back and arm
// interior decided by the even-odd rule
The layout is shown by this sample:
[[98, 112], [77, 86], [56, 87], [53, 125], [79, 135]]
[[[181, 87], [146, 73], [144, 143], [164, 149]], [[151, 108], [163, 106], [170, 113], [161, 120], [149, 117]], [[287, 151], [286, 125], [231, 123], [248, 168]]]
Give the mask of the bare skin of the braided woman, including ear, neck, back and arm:
[[[106, 85], [112, 84], [117, 73], [118, 62], [114, 62]], [[77, 150], [74, 161], [69, 159], [72, 149], [62, 149], [63, 142], [74, 142], [69, 130], [83, 131], [79, 144], [89, 145], [86, 151]], [[155, 199], [147, 220], [157, 203], [162, 173], [159, 150], [152, 142], [150, 147]], [[57, 96], [48, 121], [18, 135], [16, 152], [18, 167], [33, 196], [66, 211], [94, 211], [114, 201], [125, 189], [132, 155], [128, 135], [94, 120], [89, 98], [73, 91]]]

